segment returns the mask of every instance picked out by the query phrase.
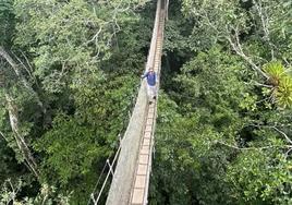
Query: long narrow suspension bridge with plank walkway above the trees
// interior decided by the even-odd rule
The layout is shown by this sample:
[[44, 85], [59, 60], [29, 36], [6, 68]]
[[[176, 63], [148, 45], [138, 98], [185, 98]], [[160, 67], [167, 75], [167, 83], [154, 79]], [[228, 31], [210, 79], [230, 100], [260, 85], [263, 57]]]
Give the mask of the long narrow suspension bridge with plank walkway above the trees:
[[[153, 37], [146, 63], [146, 71], [149, 68], [154, 68], [157, 73], [157, 89], [159, 88], [168, 4], [169, 0], [157, 0]], [[146, 83], [143, 81], [124, 136], [120, 140], [120, 146], [113, 160], [107, 160], [106, 166], [109, 170], [106, 179], [99, 192], [92, 194], [89, 204], [101, 204], [99, 200], [111, 176], [112, 181], [106, 202], [107, 205], [147, 204], [157, 117], [157, 99], [153, 104], [148, 104]]]

